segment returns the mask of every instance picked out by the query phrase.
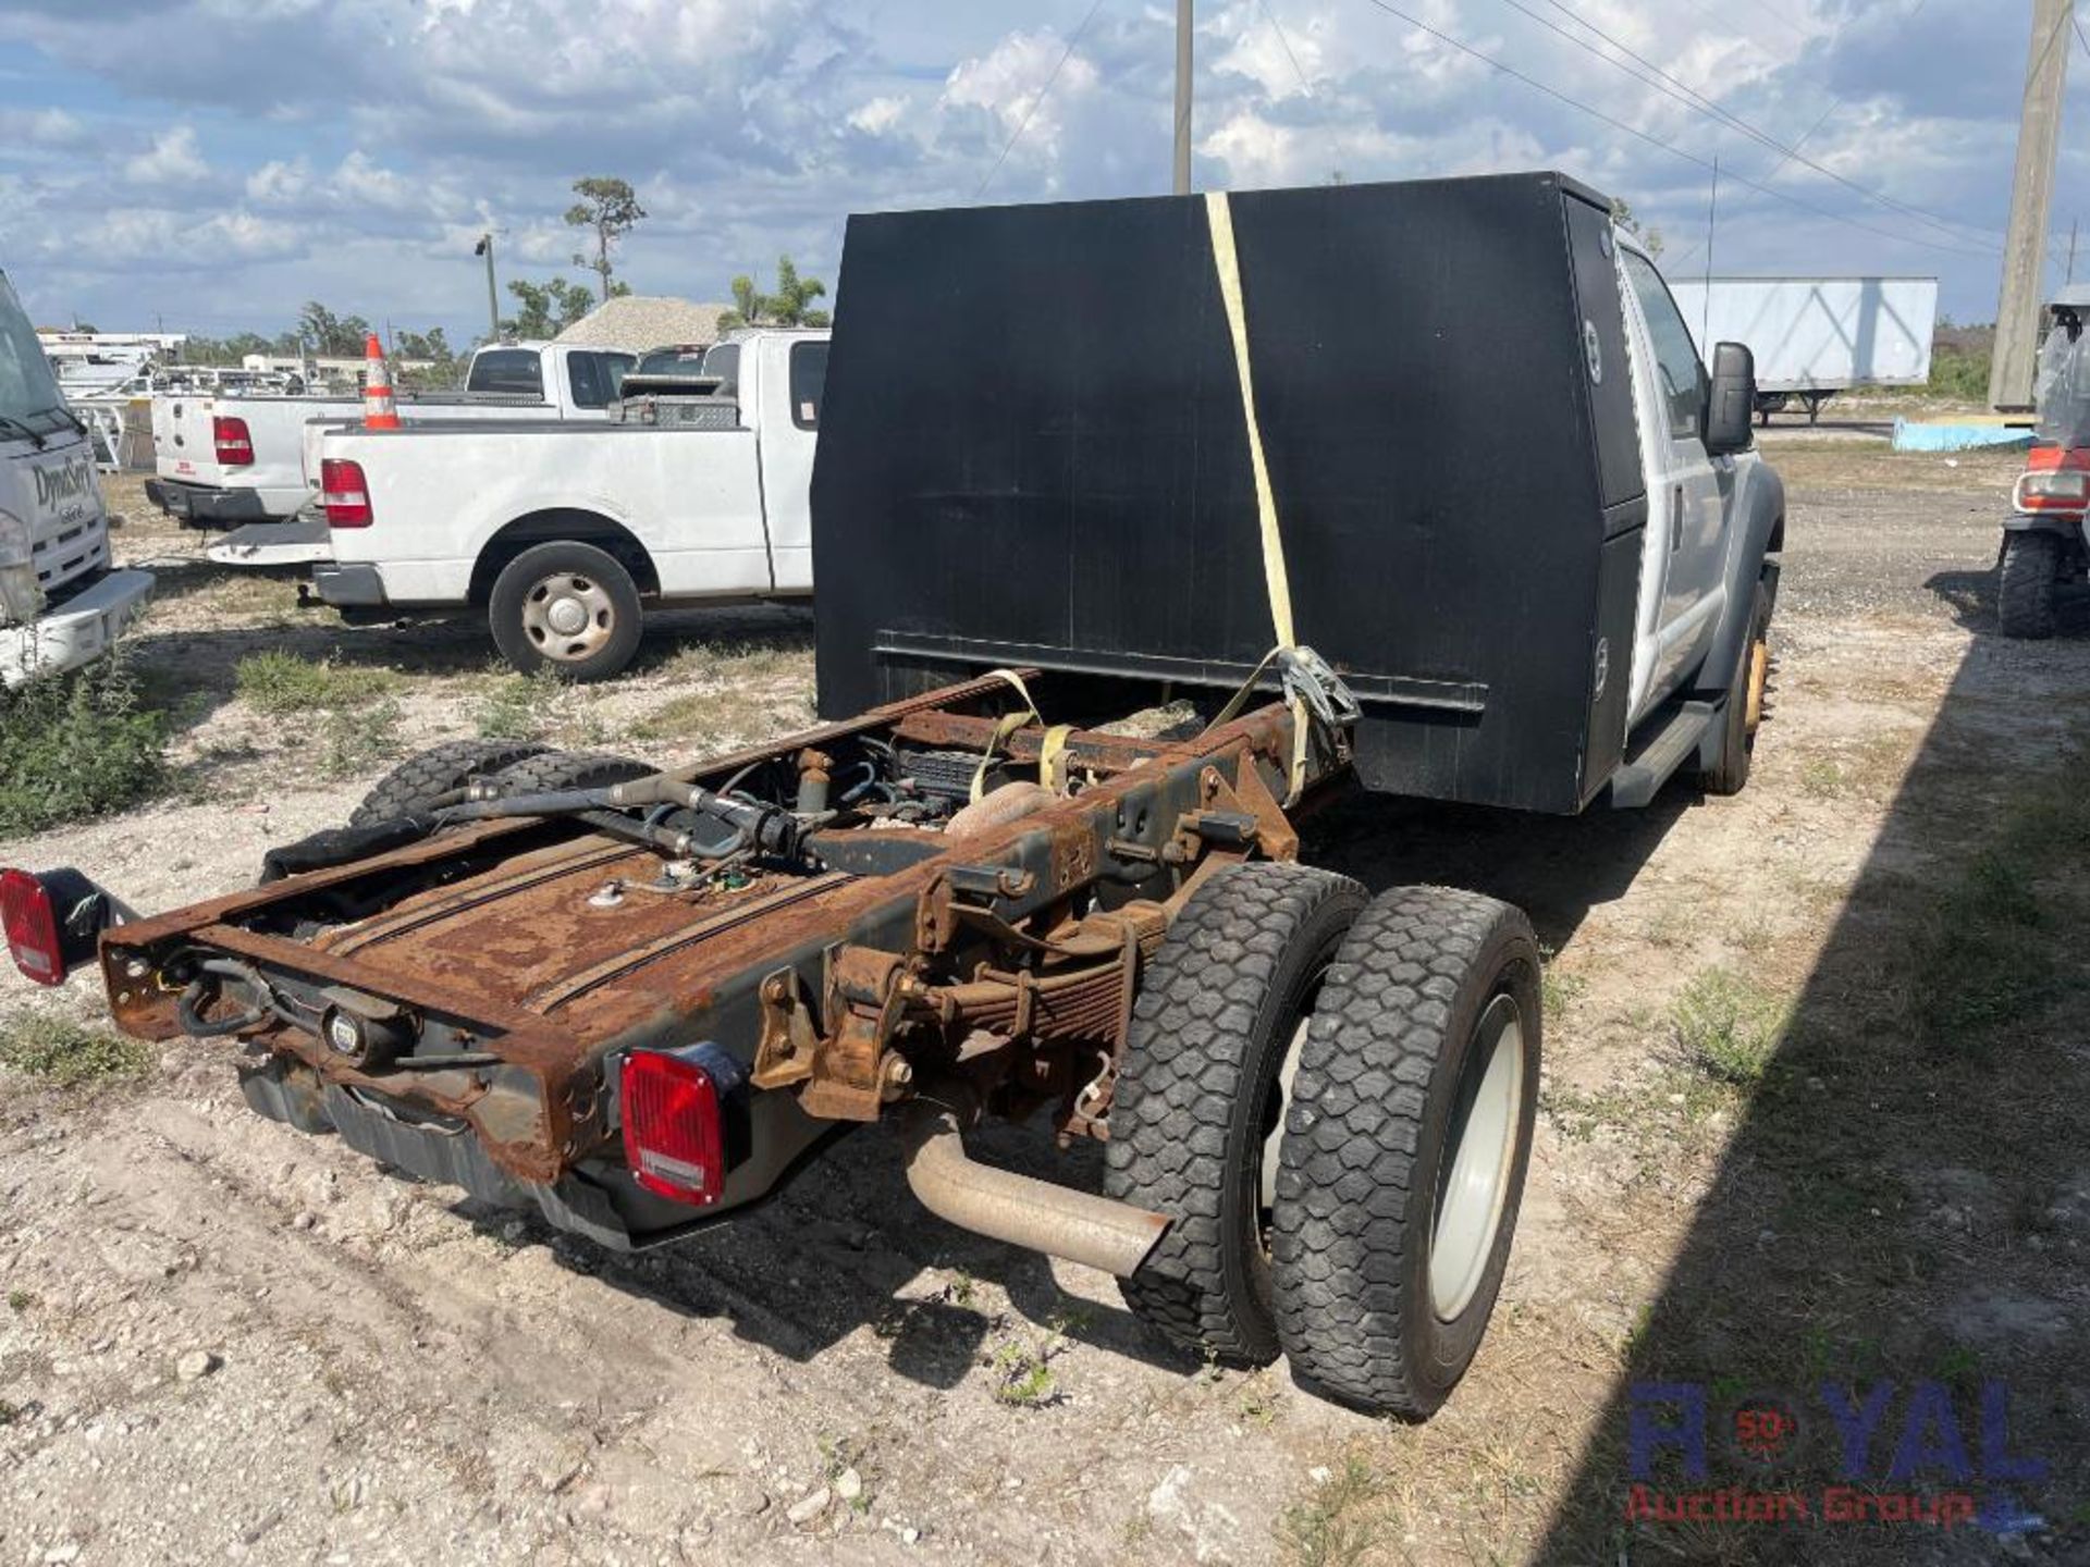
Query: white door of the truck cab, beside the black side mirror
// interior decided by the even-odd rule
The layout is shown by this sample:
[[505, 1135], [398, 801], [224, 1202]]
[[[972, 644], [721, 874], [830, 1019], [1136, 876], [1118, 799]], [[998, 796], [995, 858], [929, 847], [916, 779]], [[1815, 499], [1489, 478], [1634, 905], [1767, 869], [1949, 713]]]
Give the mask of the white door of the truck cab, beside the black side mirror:
[[1634, 658], [1632, 719], [1639, 719], [1697, 669], [1720, 625], [1735, 460], [1705, 453], [1699, 437], [1705, 370], [1668, 284], [1639, 251], [1620, 247], [1620, 255], [1639, 305], [1632, 378], [1651, 535], [1641, 579], [1643, 656]]

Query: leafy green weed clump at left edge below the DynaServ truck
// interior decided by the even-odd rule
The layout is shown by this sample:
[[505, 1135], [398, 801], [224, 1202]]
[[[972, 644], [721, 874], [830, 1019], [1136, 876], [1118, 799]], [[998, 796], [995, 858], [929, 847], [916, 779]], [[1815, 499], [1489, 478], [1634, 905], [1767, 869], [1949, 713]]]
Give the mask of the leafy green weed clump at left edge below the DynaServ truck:
[[167, 715], [123, 652], [0, 692], [0, 838], [121, 811], [167, 781]]

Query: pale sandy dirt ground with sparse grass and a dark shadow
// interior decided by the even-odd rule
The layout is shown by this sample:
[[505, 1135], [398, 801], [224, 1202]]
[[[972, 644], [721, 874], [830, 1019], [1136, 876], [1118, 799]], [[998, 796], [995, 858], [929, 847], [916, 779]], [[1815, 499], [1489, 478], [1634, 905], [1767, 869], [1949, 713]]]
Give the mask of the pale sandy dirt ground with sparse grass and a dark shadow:
[[[876, 1130], [614, 1260], [255, 1118], [228, 1045], [180, 1045], [130, 1078], [0, 1072], [0, 1561], [2090, 1559], [2090, 639], [1994, 635], [2013, 458], [1894, 455], [1856, 422], [1764, 449], [1791, 508], [1743, 796], [1582, 821], [1367, 800], [1310, 827], [1375, 888], [1515, 898], [1553, 951], [1511, 1274], [1427, 1425], [1166, 1350], [1108, 1277], [924, 1216]], [[679, 616], [631, 679], [573, 692], [493, 671], [483, 629], [345, 631], [113, 506], [161, 568], [134, 658], [180, 715], [176, 784], [4, 857], [142, 907], [245, 884], [441, 738], [679, 761], [809, 715], [798, 610]], [[242, 669], [268, 650], [328, 673], [286, 702]], [[94, 1003], [0, 978], [0, 1026]], [[1051, 1166], [1022, 1132], [989, 1151]], [[1651, 1381], [1799, 1431], [1776, 1454], [1716, 1431], [1710, 1477], [1666, 1490], [1814, 1511], [1628, 1521]], [[1883, 1383], [1852, 1475], [1825, 1387]], [[1835, 1477], [1983, 1515], [1829, 1521]]]

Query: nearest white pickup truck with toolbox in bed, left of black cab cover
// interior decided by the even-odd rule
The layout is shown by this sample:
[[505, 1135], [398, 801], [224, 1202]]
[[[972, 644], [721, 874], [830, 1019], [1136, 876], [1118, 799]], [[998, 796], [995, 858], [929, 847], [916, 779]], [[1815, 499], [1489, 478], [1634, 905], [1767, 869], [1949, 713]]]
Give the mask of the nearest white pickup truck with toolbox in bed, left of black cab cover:
[[694, 422], [326, 430], [316, 593], [357, 623], [485, 614], [516, 669], [583, 681], [631, 662], [646, 604], [811, 593], [828, 334], [746, 332], [704, 372]]

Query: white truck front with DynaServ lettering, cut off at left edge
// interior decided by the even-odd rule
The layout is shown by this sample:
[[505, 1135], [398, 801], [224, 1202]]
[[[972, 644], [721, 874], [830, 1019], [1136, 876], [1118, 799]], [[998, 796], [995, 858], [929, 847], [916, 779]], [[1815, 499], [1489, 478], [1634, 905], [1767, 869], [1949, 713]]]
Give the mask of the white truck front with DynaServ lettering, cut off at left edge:
[[0, 272], [0, 683], [96, 658], [150, 593], [153, 572], [109, 568], [88, 426]]

